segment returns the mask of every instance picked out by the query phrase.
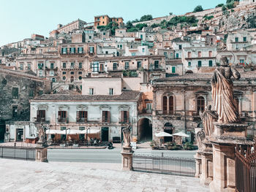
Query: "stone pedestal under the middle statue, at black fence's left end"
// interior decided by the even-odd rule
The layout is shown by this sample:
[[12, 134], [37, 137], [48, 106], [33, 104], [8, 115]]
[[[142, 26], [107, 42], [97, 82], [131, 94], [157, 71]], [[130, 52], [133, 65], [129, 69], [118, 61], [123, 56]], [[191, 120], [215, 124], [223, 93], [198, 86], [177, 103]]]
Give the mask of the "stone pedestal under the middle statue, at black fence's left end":
[[132, 147], [123, 147], [121, 151], [121, 168], [124, 171], [132, 171]]

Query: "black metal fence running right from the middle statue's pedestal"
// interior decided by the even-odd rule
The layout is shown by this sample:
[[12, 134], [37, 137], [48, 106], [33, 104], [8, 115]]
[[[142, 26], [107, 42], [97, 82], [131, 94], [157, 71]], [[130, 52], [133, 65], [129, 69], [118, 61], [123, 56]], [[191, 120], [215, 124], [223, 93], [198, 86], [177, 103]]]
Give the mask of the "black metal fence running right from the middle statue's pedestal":
[[195, 159], [132, 155], [134, 171], [195, 177]]

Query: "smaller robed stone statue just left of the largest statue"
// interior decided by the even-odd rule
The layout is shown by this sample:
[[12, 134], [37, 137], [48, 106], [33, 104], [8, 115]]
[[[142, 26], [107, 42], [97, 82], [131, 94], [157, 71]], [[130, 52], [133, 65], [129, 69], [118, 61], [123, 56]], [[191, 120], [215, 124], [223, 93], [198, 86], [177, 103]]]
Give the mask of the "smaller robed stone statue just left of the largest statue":
[[206, 107], [206, 110], [200, 114], [200, 118], [203, 121], [203, 131], [206, 136], [211, 136], [214, 132], [214, 121], [218, 120], [216, 112], [211, 111], [211, 104]]

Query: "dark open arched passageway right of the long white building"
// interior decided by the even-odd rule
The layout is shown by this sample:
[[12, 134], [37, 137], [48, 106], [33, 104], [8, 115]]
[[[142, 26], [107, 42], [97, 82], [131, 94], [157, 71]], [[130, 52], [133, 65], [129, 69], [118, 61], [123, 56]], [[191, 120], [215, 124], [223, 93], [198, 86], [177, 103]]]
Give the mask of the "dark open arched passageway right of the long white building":
[[152, 123], [148, 118], [141, 118], [138, 121], [138, 141], [146, 142], [152, 140]]

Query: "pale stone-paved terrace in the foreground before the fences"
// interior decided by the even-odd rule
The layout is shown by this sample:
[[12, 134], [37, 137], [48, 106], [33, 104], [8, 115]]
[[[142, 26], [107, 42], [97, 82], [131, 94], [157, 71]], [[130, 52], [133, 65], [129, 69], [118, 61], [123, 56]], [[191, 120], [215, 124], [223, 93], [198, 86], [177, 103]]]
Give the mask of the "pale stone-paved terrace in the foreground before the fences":
[[193, 177], [123, 172], [120, 166], [1, 158], [0, 191], [208, 191]]

